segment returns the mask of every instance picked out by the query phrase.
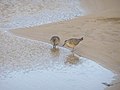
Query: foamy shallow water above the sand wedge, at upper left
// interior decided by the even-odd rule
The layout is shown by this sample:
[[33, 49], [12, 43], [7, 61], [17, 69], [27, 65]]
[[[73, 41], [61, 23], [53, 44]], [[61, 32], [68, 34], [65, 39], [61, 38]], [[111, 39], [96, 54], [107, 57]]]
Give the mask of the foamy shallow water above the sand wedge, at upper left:
[[79, 0], [0, 0], [0, 28], [31, 27], [80, 15]]

